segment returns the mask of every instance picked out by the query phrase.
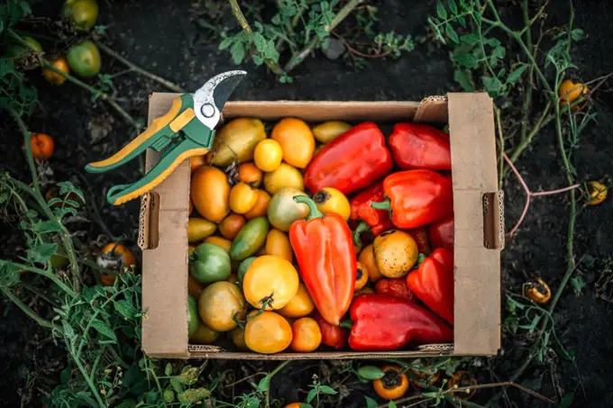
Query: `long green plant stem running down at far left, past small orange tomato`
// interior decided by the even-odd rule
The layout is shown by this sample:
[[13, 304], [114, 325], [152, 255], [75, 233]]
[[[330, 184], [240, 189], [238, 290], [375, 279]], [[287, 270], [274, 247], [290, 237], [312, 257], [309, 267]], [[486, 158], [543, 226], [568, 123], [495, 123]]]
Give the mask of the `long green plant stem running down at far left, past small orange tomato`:
[[[14, 121], [17, 123], [17, 126], [19, 126], [19, 130], [23, 134], [23, 147], [25, 149], [25, 158], [28, 161], [28, 167], [30, 168], [30, 173], [32, 175], [32, 185], [34, 186], [34, 192], [32, 196], [41, 206], [41, 209], [43, 213], [47, 216], [47, 218], [49, 218], [50, 221], [57, 222], [59, 225], [59, 237], [61, 239], [62, 245], [64, 246], [64, 249], [66, 250], [66, 253], [69, 256], [70, 270], [72, 271], [73, 290], [78, 292], [78, 289], [81, 285], [81, 273], [78, 267], [77, 255], [75, 254], [75, 250], [72, 246], [72, 240], [70, 239], [70, 232], [66, 229], [64, 224], [59, 222], [59, 220], [51, 211], [49, 205], [47, 204], [42, 195], [41, 185], [38, 181], [38, 174], [36, 173], [36, 166], [34, 165], [34, 159], [32, 159], [32, 145], [30, 144], [31, 132], [28, 131], [28, 129], [25, 127], [25, 123], [23, 122], [22, 117], [18, 113], [14, 112], [13, 110], [11, 110], [10, 113], [13, 116]], [[15, 184], [19, 186], [19, 183]], [[20, 188], [23, 188], [23, 186]], [[70, 293], [71, 292], [72, 291], [70, 291]]]

